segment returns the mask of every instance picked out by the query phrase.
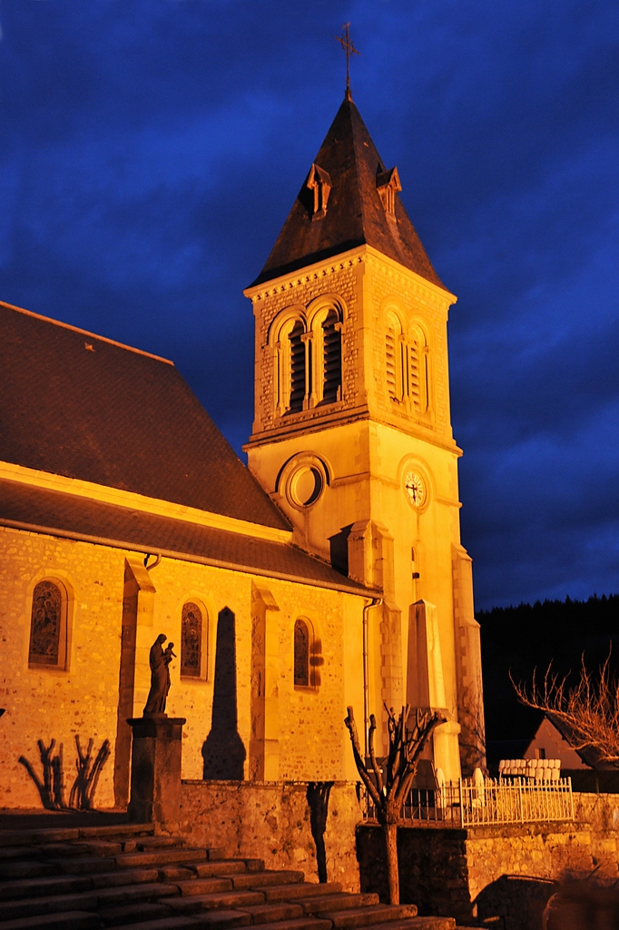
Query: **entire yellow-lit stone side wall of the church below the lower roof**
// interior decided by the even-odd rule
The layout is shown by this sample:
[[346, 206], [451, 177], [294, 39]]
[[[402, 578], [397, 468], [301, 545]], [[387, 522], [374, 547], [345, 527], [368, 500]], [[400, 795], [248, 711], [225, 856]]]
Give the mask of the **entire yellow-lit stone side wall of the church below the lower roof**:
[[[68, 800], [75, 771], [75, 736], [80, 737], [83, 746], [93, 738], [95, 751], [104, 739], [110, 741], [112, 755], [99, 779], [95, 804], [102, 808], [125, 806], [128, 799], [120, 785], [119, 770], [125, 770], [126, 788], [129, 750], [128, 743], [120, 744], [120, 728], [127, 717], [141, 715], [150, 684], [148, 653], [159, 632], [176, 644], [178, 658], [170, 668], [172, 686], [166, 710], [172, 717], [187, 719], [183, 728], [183, 776], [203, 777], [207, 757], [214, 758], [217, 752], [223, 764], [228, 764], [224, 771], [232, 776], [230, 746], [225, 739], [219, 739], [217, 744], [213, 738], [217, 733], [220, 736], [222, 729], [229, 733], [231, 721], [238, 757], [234, 777], [248, 777], [255, 705], [265, 697], [264, 683], [255, 673], [260, 644], [253, 639], [252, 603], [257, 586], [267, 591], [272, 605], [272, 669], [266, 697], [270, 745], [277, 749], [277, 771], [271, 777], [350, 777], [354, 763], [344, 717], [348, 704], [355, 706], [358, 718], [362, 717], [359, 656], [363, 599], [310, 584], [252, 577], [241, 571], [165, 557], [150, 572], [141, 569], [151, 593], [145, 605], [137, 608], [138, 642], [134, 641], [133, 654], [129, 655], [132, 649], [125, 649], [125, 630], [131, 622], [135, 628], [138, 621], [135, 610], [129, 618], [126, 566], [127, 560], [132, 560], [139, 568], [143, 557], [143, 553], [110, 546], [0, 527], [0, 706], [6, 709], [0, 724], [0, 807], [41, 807], [33, 780], [19, 763], [23, 755], [41, 774], [38, 739], [46, 745], [55, 739], [57, 750], [60, 744], [63, 746]], [[69, 593], [67, 661], [62, 668], [29, 666], [33, 588], [42, 578], [58, 579]], [[138, 586], [134, 587], [137, 590]], [[204, 612], [204, 670], [195, 678], [180, 675], [181, 614], [187, 601], [200, 604]], [[224, 614], [232, 618], [230, 629], [236, 650], [232, 653], [230, 680], [222, 688], [222, 695], [225, 690], [228, 697], [219, 701], [219, 707], [226, 711], [222, 714], [225, 719], [218, 721], [217, 730], [213, 719], [217, 626]], [[312, 687], [296, 687], [294, 683], [294, 627], [298, 616], [309, 619], [316, 640], [320, 640], [320, 675], [316, 675]], [[123, 689], [125, 666], [128, 683]], [[123, 695], [127, 692], [120, 710], [119, 691]], [[256, 740], [254, 751], [255, 744]], [[221, 776], [217, 773], [215, 777]]]

